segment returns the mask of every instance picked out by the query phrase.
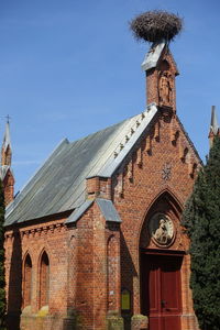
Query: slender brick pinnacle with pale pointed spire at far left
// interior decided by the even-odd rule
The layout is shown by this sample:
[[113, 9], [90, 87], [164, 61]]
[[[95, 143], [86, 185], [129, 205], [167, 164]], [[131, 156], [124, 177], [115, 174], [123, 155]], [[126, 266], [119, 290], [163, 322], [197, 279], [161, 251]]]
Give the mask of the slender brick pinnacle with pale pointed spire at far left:
[[14, 196], [14, 177], [11, 169], [11, 158], [12, 158], [12, 148], [11, 148], [11, 139], [10, 139], [10, 125], [8, 119], [6, 125], [6, 132], [3, 136], [3, 143], [1, 147], [1, 167], [0, 167], [0, 178], [3, 185], [6, 206], [13, 200], [13, 196]]

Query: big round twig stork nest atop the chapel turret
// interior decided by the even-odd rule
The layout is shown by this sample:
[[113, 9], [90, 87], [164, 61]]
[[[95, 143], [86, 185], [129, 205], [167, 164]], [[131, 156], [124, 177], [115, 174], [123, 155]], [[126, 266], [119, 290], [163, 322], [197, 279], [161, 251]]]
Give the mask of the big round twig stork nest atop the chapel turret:
[[166, 11], [147, 11], [136, 16], [130, 23], [138, 40], [158, 42], [172, 41], [183, 29], [183, 19]]

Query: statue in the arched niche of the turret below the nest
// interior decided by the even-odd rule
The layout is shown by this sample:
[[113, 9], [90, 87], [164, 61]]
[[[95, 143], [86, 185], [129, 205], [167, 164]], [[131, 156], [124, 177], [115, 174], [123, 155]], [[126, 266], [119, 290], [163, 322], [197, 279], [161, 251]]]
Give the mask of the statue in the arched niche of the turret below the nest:
[[173, 81], [172, 74], [164, 70], [158, 81], [160, 106], [173, 106]]

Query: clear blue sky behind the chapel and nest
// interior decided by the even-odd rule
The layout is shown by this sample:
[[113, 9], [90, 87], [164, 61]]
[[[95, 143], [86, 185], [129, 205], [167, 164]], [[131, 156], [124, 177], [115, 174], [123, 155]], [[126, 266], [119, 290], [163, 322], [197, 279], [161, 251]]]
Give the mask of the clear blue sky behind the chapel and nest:
[[170, 45], [177, 113], [202, 160], [219, 88], [219, 0], [1, 0], [0, 136], [11, 119], [15, 190], [64, 138], [74, 141], [145, 109], [148, 50], [128, 22], [164, 9], [185, 20]]

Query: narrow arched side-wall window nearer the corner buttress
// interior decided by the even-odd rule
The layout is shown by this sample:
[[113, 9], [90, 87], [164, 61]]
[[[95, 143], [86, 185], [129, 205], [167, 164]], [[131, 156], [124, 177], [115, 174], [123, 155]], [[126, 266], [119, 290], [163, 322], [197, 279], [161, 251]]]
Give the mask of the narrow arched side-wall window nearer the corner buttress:
[[44, 251], [40, 263], [40, 308], [48, 305], [50, 292], [50, 261]]

